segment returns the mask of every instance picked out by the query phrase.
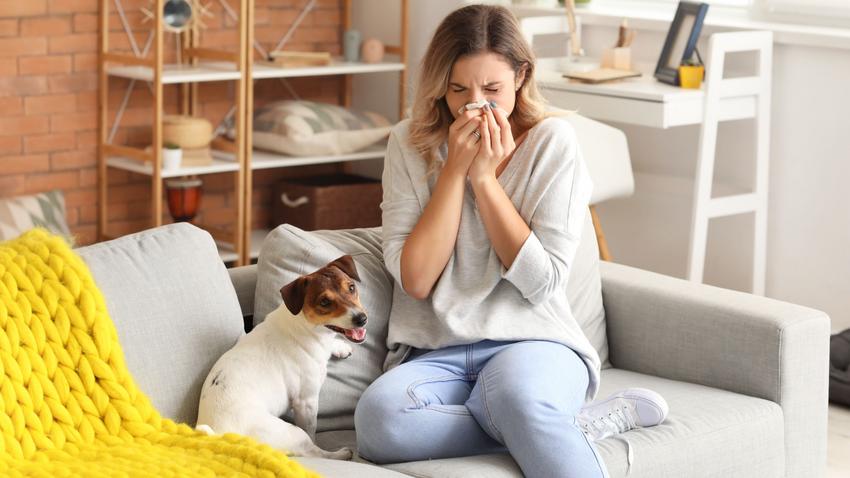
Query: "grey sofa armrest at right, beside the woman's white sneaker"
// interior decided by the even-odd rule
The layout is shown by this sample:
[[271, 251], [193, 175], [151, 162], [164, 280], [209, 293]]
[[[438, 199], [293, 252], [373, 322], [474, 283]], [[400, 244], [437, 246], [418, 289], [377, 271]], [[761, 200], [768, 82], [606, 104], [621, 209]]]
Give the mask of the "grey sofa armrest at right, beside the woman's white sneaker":
[[619, 264], [600, 274], [614, 366], [779, 404], [786, 476], [825, 473], [825, 313]]

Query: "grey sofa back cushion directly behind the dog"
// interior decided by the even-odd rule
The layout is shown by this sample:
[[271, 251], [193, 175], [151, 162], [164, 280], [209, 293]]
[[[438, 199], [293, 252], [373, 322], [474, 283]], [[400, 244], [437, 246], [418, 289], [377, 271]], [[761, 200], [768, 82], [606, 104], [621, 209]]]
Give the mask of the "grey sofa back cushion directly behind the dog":
[[319, 393], [318, 430], [354, 427], [360, 395], [381, 374], [387, 355], [387, 320], [392, 279], [384, 269], [380, 229], [303, 231], [284, 224], [263, 242], [257, 262], [254, 323], [260, 323], [283, 299], [280, 288], [343, 254], [350, 254], [360, 275], [360, 302], [366, 309], [366, 341], [344, 360], [331, 359]]

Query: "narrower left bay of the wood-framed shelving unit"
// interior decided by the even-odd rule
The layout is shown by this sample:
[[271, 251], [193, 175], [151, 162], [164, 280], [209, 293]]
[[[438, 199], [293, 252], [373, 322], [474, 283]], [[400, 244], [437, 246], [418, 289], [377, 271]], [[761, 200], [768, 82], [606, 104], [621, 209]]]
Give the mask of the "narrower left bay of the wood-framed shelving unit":
[[[108, 239], [108, 210], [109, 204], [109, 176], [108, 168], [117, 168], [136, 174], [146, 175], [151, 181], [151, 226], [162, 224], [163, 215], [163, 180], [170, 177], [187, 175], [200, 175], [212, 173], [233, 173], [233, 186], [236, 196], [235, 214], [231, 230], [222, 228], [208, 228], [217, 241], [226, 241], [232, 249], [233, 260], [236, 264], [242, 264], [246, 257], [243, 228], [245, 223], [245, 121], [243, 118], [251, 114], [251, 108], [247, 105], [246, 90], [250, 84], [246, 75], [249, 64], [247, 47], [249, 5], [253, 0], [240, 0], [239, 19], [237, 21], [239, 43], [235, 53], [224, 50], [200, 48], [197, 30], [188, 30], [180, 33], [183, 45], [182, 56], [187, 59], [185, 64], [164, 64], [163, 40], [163, 4], [164, 0], [153, 2], [153, 28], [150, 32], [148, 46], [153, 47], [153, 52], [148, 55], [148, 46], [144, 50], [138, 49], [134, 40], [134, 34], [129, 26], [124, 23], [125, 33], [130, 38], [134, 54], [119, 54], [109, 51], [109, 0], [100, 0], [100, 51], [98, 56], [98, 240]], [[123, 6], [120, 0], [115, 2], [115, 8], [122, 20], [124, 19]], [[139, 81], [150, 84], [153, 94], [152, 105], [152, 135], [150, 150], [113, 144], [109, 136], [110, 119], [108, 118], [109, 99], [109, 77], [119, 77], [131, 80], [125, 92], [122, 106], [116, 113], [114, 122], [120, 123], [129, 92]], [[236, 141], [230, 146], [229, 153], [231, 161], [214, 159], [211, 165], [184, 167], [175, 171], [162, 170], [162, 117], [163, 117], [163, 87], [165, 85], [181, 85], [183, 101], [180, 104], [180, 113], [194, 115], [197, 113], [197, 84], [207, 81], [236, 81]], [[214, 146], [215, 147], [215, 146]], [[220, 154], [215, 152], [215, 154]], [[230, 257], [230, 256], [228, 256]]]

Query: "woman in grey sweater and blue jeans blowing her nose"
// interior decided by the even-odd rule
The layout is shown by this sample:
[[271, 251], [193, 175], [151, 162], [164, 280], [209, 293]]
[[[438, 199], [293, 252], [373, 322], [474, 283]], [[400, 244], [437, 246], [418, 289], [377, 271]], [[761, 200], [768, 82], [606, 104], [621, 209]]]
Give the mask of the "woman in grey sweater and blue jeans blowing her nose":
[[[496, 106], [464, 108], [479, 100]], [[401, 287], [390, 370], [355, 413], [361, 456], [507, 450], [529, 477], [607, 476], [576, 420], [599, 357], [564, 293], [592, 184], [569, 124], [544, 114], [509, 11], [472, 5], [438, 27], [383, 186], [384, 259]]]

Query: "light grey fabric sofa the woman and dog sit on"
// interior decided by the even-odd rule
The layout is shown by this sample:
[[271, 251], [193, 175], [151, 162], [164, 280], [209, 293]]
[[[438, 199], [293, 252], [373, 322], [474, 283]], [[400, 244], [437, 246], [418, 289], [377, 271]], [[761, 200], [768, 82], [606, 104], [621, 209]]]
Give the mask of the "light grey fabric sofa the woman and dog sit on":
[[[597, 442], [610, 476], [822, 477], [829, 318], [794, 304], [599, 262], [592, 257], [598, 251], [592, 226], [586, 229], [580, 255], [590, 272], [584, 282], [571, 275], [570, 283], [578, 284], [576, 315], [593, 318], [595, 328], [586, 333], [598, 335], [604, 326], [602, 336], [592, 338], [605, 347], [599, 397], [647, 387], [670, 405], [661, 425]], [[104, 294], [137, 383], [164, 416], [190, 424], [212, 364], [262, 320], [261, 309], [267, 313], [279, 304], [280, 286], [340, 252], [351, 254], [361, 275], [369, 335], [352, 357], [329, 365], [317, 441], [328, 449], [356, 445], [353, 407], [381, 373], [388, 302], [400, 293], [381, 269], [380, 228], [305, 232], [281, 226], [266, 239], [257, 265], [233, 269], [220, 261], [212, 237], [188, 224], [77, 251]], [[592, 300], [579, 303], [582, 295], [601, 298], [601, 308], [589, 307]], [[522, 476], [508, 454], [385, 466], [361, 459], [298, 461], [328, 477]]]

